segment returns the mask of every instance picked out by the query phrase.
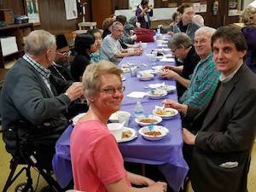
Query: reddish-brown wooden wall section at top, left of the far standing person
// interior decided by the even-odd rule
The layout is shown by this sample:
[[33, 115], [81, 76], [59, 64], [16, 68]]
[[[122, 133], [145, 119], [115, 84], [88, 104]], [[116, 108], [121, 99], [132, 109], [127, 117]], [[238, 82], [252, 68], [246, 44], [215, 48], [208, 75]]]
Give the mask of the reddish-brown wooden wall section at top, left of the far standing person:
[[97, 23], [97, 28], [102, 28], [102, 21], [113, 15], [113, 0], [91, 0], [91, 21]]

